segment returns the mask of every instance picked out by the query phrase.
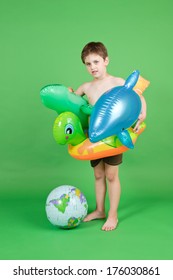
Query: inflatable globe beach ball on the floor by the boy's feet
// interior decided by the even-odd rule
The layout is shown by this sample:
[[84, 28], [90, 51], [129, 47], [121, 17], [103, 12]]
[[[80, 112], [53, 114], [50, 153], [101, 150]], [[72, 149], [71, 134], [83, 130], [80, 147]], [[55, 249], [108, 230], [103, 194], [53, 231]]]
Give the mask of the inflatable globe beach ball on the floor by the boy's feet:
[[51, 224], [70, 229], [78, 226], [87, 215], [88, 204], [83, 193], [68, 185], [55, 188], [46, 201], [46, 215]]

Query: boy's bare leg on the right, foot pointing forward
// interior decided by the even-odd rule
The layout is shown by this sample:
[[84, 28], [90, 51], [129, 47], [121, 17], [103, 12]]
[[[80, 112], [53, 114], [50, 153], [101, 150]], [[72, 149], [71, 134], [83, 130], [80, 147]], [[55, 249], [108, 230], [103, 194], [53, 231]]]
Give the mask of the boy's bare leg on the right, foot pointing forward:
[[110, 201], [110, 210], [107, 221], [102, 229], [105, 231], [113, 230], [118, 223], [117, 209], [120, 200], [121, 187], [118, 176], [118, 165], [109, 165], [105, 163], [105, 174], [108, 181], [108, 193]]

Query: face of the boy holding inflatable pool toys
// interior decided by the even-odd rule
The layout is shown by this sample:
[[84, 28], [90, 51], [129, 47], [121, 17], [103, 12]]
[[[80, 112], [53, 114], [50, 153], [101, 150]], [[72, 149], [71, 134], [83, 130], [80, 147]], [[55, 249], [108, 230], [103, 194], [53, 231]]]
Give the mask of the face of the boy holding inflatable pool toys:
[[85, 65], [90, 75], [95, 79], [101, 78], [106, 73], [109, 63], [108, 57], [103, 59], [100, 55], [91, 53], [85, 58]]

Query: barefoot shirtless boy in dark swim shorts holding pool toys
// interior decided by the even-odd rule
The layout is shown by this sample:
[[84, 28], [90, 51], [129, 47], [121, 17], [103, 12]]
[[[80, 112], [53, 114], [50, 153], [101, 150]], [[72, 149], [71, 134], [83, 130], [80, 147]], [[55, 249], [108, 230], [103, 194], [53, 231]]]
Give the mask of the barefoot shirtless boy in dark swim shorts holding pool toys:
[[[107, 73], [109, 58], [107, 49], [101, 42], [88, 43], [82, 50], [81, 59], [86, 65], [89, 74], [93, 77], [93, 80], [81, 85], [75, 93], [81, 96], [86, 94], [91, 105], [94, 105], [104, 92], [124, 84], [122, 78], [117, 78]], [[146, 117], [146, 103], [143, 96], [141, 96], [141, 101], [142, 111], [134, 127], [134, 131], [136, 132], [139, 129], [140, 123]], [[104, 219], [106, 217], [105, 195], [107, 181], [110, 209], [108, 218], [102, 227], [104, 231], [113, 230], [118, 224], [117, 209], [121, 193], [118, 165], [121, 163], [122, 154], [91, 161], [95, 176], [96, 210], [90, 213], [84, 221]]]

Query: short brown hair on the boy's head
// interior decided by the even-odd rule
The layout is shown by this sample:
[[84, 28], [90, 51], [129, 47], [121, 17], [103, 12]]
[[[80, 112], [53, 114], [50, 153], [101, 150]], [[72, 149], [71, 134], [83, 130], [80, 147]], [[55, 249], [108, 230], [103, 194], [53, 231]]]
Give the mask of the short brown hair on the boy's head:
[[105, 59], [108, 56], [107, 49], [103, 45], [103, 43], [90, 42], [82, 50], [81, 59], [83, 63], [85, 63], [85, 58], [91, 53], [96, 53], [100, 55], [103, 59]]

